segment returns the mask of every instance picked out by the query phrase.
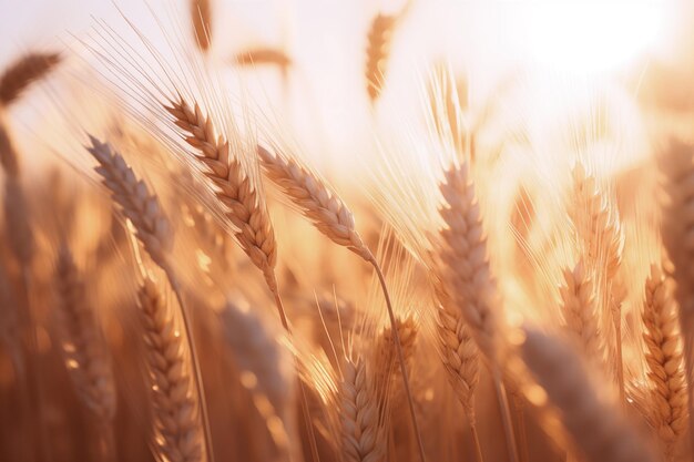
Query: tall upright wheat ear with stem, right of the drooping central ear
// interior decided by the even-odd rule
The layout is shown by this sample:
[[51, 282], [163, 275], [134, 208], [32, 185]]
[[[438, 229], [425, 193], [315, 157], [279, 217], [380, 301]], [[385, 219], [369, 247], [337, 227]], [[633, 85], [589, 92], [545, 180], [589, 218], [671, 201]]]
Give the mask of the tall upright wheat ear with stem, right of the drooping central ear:
[[443, 175], [439, 189], [445, 204], [439, 215], [446, 227], [439, 233], [440, 242], [436, 243], [440, 247], [441, 263], [437, 270], [441, 287], [437, 291], [460, 310], [477, 347], [490, 362], [509, 459], [517, 462], [518, 449], [499, 365], [501, 324], [497, 310], [500, 299], [487, 254], [480, 206], [467, 164], [451, 165]]

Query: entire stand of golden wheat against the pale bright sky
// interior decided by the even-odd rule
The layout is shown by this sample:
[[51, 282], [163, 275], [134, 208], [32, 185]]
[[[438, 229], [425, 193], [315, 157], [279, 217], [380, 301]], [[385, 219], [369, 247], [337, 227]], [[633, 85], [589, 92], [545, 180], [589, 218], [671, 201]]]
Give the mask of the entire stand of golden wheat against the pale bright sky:
[[[0, 78], [1, 460], [691, 460], [694, 147], [542, 173], [437, 68], [422, 134], [340, 197], [225, 90], [212, 16]], [[404, 16], [368, 34], [374, 107]], [[64, 141], [33, 131], [40, 173], [13, 121], [37, 93]]]

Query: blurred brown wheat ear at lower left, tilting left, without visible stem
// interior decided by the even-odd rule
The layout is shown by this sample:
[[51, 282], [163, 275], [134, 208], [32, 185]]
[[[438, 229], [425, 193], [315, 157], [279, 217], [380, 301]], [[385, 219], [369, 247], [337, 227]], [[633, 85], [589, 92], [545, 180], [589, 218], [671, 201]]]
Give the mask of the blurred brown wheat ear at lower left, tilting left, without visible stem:
[[78, 397], [105, 422], [115, 417], [115, 383], [106, 345], [86, 299], [86, 284], [67, 246], [55, 267], [57, 333]]

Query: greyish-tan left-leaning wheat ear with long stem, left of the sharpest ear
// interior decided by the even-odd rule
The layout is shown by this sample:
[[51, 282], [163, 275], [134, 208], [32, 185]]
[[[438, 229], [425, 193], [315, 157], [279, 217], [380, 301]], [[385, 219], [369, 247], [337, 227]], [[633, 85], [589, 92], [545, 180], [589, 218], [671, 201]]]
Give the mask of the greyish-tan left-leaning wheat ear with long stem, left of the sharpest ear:
[[86, 151], [99, 162], [95, 171], [103, 178], [103, 183], [111, 191], [113, 201], [121, 206], [123, 216], [133, 224], [135, 235], [142, 246], [147, 251], [152, 260], [159, 265], [176, 295], [186, 340], [191, 350], [191, 362], [193, 363], [195, 389], [198, 393], [203, 424], [205, 428], [205, 442], [207, 444], [207, 456], [213, 460], [212, 437], [210, 431], [210, 419], [207, 418], [207, 407], [205, 403], [202, 372], [200, 370], [200, 359], [195, 349], [193, 337], [193, 325], [188, 318], [185, 304], [183, 301], [182, 289], [175, 275], [173, 266], [170, 264], [170, 254], [173, 249], [174, 235], [169, 218], [164, 215], [159, 199], [154, 194], [150, 194], [147, 185], [135, 176], [132, 168], [125, 163], [120, 153], [114, 152], [108, 143], [101, 143], [90, 135], [92, 146]]

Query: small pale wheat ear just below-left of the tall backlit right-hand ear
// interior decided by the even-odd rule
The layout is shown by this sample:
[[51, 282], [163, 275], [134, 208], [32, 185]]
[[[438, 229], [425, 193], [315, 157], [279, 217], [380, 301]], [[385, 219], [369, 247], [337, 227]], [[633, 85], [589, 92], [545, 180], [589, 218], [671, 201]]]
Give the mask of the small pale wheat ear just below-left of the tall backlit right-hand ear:
[[567, 329], [575, 337], [586, 358], [602, 355], [595, 289], [585, 265], [579, 261], [573, 269], [564, 269], [564, 286], [560, 289], [561, 308]]

